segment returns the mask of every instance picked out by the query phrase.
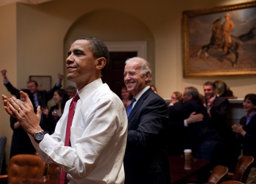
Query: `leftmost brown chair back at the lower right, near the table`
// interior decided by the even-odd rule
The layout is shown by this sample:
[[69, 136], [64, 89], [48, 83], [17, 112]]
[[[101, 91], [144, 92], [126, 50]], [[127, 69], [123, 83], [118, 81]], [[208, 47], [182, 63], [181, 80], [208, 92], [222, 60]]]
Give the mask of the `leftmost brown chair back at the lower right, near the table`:
[[221, 184], [226, 180], [228, 168], [222, 165], [218, 165], [213, 168], [211, 176], [209, 177], [207, 184]]

